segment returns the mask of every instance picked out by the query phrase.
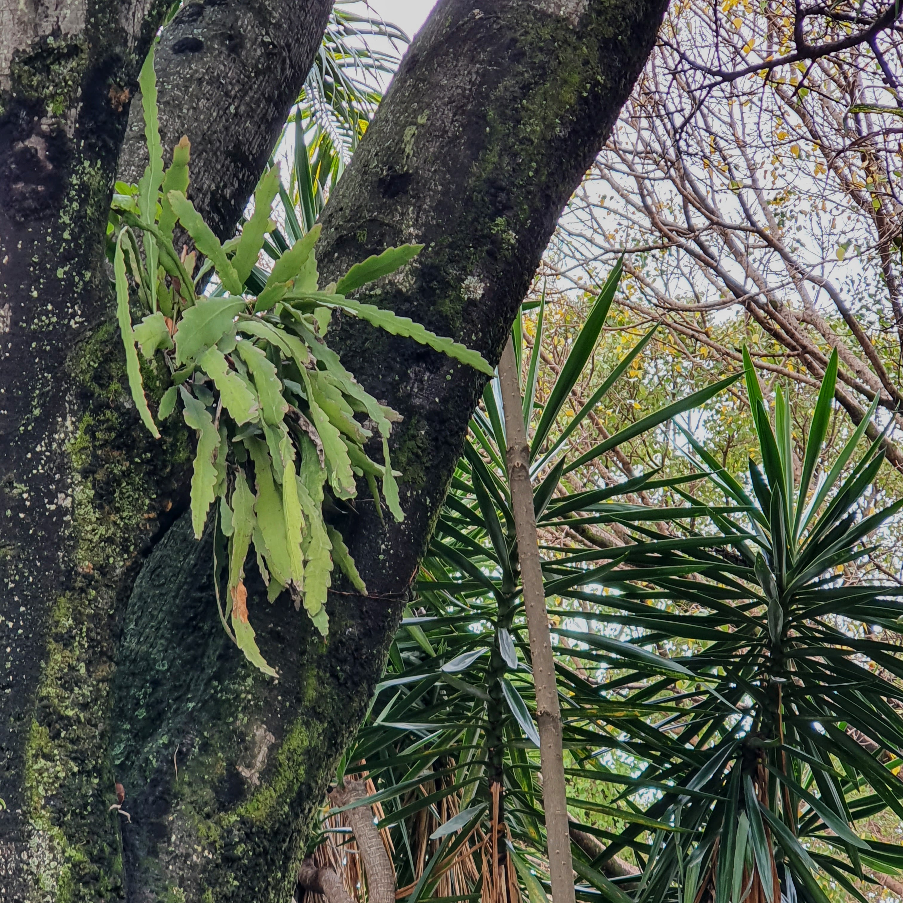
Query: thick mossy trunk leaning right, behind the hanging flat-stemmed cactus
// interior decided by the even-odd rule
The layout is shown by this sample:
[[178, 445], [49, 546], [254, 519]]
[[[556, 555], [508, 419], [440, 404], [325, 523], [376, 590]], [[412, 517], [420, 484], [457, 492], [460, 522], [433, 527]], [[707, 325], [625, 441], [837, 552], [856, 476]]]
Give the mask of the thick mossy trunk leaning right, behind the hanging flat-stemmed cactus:
[[[498, 359], [663, 7], [590, 3], [560, 14], [526, 0], [441, 3], [324, 211], [323, 281], [387, 246], [423, 242], [414, 265], [365, 300]], [[236, 898], [288, 898], [307, 824], [367, 710], [461, 452], [478, 374], [354, 321], [336, 321], [330, 336], [405, 416], [394, 437], [405, 522], [383, 523], [361, 500], [339, 525], [370, 596], [336, 585], [325, 644], [288, 600], [269, 607], [252, 593], [278, 684], [249, 672], [220, 637], [208, 553], [187, 525], [154, 552], [129, 603], [129, 661], [120, 658], [116, 681], [114, 760], [135, 816], [126, 862], [144, 887], [169, 882], [219, 899], [237, 881], [247, 897]], [[177, 680], [173, 658], [193, 663]]]

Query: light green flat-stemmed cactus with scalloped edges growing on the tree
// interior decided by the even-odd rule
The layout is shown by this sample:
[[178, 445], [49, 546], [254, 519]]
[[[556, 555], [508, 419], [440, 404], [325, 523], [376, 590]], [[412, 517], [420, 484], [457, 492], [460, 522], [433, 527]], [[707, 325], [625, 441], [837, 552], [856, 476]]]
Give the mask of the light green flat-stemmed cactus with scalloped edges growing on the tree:
[[[137, 186], [116, 186], [113, 213], [117, 311], [129, 383], [144, 423], [159, 437], [144, 397], [137, 341], [144, 357], [160, 360], [172, 377], [158, 418], [172, 415], [181, 401], [184, 421], [197, 435], [191, 520], [200, 539], [214, 506], [218, 529], [228, 537], [228, 595], [220, 608], [224, 626], [249, 661], [275, 674], [248, 623], [243, 568], [250, 547], [270, 599], [290, 591], [325, 635], [334, 548], [342, 571], [364, 591], [347, 548], [324, 522], [327, 492], [337, 499], [355, 498], [358, 478], [366, 475], [376, 494], [374, 478], [380, 479], [389, 510], [396, 519], [403, 517], [387, 442], [398, 415], [358, 386], [325, 344], [322, 324], [330, 311], [340, 308], [484, 372], [491, 368], [476, 352], [407, 318], [331, 289], [321, 291], [315, 258], [319, 228], [276, 255], [271, 274], [260, 270], [257, 258], [275, 228], [269, 210], [279, 187], [278, 170], [262, 178], [255, 212], [240, 237], [220, 244], [184, 193], [190, 154], [186, 138], [163, 171], [153, 52], [141, 83], [151, 163]], [[197, 274], [194, 254], [180, 258], [172, 246], [176, 222], [206, 257]], [[144, 256], [137, 249], [139, 233]], [[389, 248], [352, 267], [343, 280], [346, 290], [394, 272], [419, 251], [419, 246]], [[210, 271], [216, 277], [213, 284], [219, 285], [205, 294], [200, 285]], [[133, 330], [130, 304], [135, 300], [143, 319]], [[365, 418], [377, 424], [382, 463], [368, 455], [372, 433]]]

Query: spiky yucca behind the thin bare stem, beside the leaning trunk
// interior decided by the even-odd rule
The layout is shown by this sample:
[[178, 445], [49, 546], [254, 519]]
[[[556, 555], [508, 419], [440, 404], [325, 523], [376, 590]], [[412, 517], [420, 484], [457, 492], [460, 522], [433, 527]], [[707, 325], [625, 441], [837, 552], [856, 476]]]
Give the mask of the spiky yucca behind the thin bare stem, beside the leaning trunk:
[[[569, 461], [568, 437], [652, 338], [653, 333], [647, 333], [587, 404], [577, 414], [563, 417], [573, 386], [591, 361], [619, 276], [617, 267], [536, 418], [544, 303], [537, 312], [533, 353], [528, 362], [521, 361], [526, 370], [521, 413], [531, 426], [535, 513], [544, 535], [560, 533], [577, 519], [592, 523], [635, 517], [678, 520], [705, 510], [699, 506], [650, 510], [608, 501], [682, 481], [655, 479], [654, 473], [580, 492], [562, 483], [565, 471], [575, 471], [621, 442], [703, 404], [736, 378], [649, 414], [591, 453]], [[519, 321], [515, 337], [517, 351], [523, 354]], [[539, 737], [532, 713], [535, 689], [498, 397], [494, 380], [483, 396], [482, 410], [471, 422], [470, 441], [417, 583], [419, 598], [392, 647], [368, 725], [347, 759], [352, 771], [360, 767], [356, 763], [366, 762], [376, 783], [374, 799], [386, 808], [382, 824], [392, 826], [399, 894], [411, 903], [437, 897], [510, 900], [521, 889], [526, 889], [532, 903], [546, 898]], [[579, 558], [577, 563], [561, 564], [550, 556], [545, 572], [550, 595], [592, 580]], [[599, 738], [587, 731], [585, 723], [608, 703], [585, 682], [568, 687], [561, 702], [565, 747], [571, 749], [572, 757], [575, 751], [578, 759], [589, 757]], [[626, 817], [635, 817], [646, 828], [658, 824], [644, 815]], [[575, 864], [594, 893], [599, 889], [616, 893], [585, 853]]]

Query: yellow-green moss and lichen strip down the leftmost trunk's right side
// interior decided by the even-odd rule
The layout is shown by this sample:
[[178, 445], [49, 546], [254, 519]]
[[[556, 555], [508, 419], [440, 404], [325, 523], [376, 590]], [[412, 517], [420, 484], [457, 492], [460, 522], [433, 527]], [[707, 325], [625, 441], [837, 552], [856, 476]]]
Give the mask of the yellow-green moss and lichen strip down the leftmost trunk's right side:
[[74, 573], [45, 628], [23, 749], [26, 864], [33, 898], [48, 900], [116, 898], [121, 890], [106, 755], [117, 609], [158, 514], [171, 504], [166, 490], [187, 463], [182, 430], [160, 448], [137, 421], [111, 326], [72, 354], [69, 371], [84, 411], [78, 427], [61, 434], [70, 484], [59, 505], [68, 512]]

